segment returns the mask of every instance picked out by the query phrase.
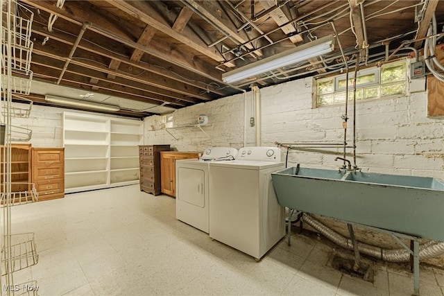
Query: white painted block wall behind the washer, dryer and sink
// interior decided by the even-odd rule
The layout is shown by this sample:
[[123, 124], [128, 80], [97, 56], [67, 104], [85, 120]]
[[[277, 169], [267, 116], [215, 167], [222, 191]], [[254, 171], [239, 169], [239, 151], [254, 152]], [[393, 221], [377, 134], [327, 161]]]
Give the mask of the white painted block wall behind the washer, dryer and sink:
[[[256, 128], [251, 128], [251, 93], [247, 92], [216, 101], [183, 108], [173, 112], [173, 125], [196, 123], [199, 114], [207, 114], [210, 125], [203, 128], [210, 136], [196, 129], [173, 130], [176, 139], [162, 130], [162, 116], [145, 119], [145, 143], [171, 144], [178, 150], [203, 150], [208, 146], [274, 146], [274, 142], [343, 143], [341, 115], [343, 105], [313, 108], [312, 79], [261, 89], [261, 143], [255, 143]], [[418, 81], [416, 81], [418, 82]], [[246, 114], [244, 116], [244, 102]], [[363, 171], [438, 177], [444, 180], [444, 116], [427, 117], [427, 92], [416, 92], [400, 98], [386, 98], [357, 103], [357, 166]], [[349, 105], [347, 142], [352, 145], [353, 108]], [[245, 137], [244, 142], [244, 123]], [[300, 163], [319, 168], [338, 168], [334, 162], [342, 156], [341, 148], [310, 148], [293, 150], [288, 166]], [[352, 149], [347, 157], [352, 160]], [[346, 227], [330, 225], [347, 235]], [[359, 232], [358, 232], [359, 233]], [[359, 239], [366, 243], [391, 241], [379, 234], [366, 234]], [[370, 238], [366, 241], [366, 238]], [[398, 248], [396, 243], [388, 243]], [[382, 245], [387, 247], [387, 245]], [[444, 267], [444, 256], [427, 263]]]

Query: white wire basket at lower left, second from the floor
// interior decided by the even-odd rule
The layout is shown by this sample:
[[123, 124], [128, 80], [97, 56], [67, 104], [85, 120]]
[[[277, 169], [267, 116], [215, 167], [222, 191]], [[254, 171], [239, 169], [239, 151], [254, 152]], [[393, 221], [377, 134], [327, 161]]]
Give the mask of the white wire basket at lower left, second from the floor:
[[38, 263], [39, 255], [33, 232], [3, 236], [3, 241], [6, 243], [9, 241], [9, 245], [5, 244], [1, 248], [2, 276]]

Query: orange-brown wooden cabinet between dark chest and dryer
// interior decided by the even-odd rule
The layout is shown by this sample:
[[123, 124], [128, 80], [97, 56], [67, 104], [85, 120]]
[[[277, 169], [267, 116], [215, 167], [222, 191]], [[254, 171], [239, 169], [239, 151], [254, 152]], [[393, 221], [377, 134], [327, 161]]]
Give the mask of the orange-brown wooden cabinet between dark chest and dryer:
[[168, 151], [160, 153], [162, 193], [176, 197], [176, 160], [198, 158], [197, 152]]

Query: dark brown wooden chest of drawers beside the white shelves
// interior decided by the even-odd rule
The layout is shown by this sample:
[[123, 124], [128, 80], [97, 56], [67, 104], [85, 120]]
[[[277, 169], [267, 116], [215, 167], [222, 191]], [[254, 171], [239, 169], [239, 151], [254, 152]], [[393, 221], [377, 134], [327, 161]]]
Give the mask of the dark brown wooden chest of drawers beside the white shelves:
[[140, 190], [153, 195], [161, 192], [160, 153], [169, 145], [139, 146]]

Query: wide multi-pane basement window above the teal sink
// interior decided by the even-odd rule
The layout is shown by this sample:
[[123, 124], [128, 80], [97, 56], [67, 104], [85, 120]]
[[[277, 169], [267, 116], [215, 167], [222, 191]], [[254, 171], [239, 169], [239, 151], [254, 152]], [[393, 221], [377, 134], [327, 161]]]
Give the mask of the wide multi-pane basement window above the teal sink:
[[[407, 93], [407, 61], [402, 60], [382, 67], [361, 70], [357, 73], [356, 92], [353, 89], [355, 72], [348, 74], [348, 101], [365, 101]], [[346, 76], [332, 76], [316, 80], [316, 107], [345, 102]]]

